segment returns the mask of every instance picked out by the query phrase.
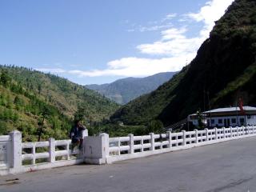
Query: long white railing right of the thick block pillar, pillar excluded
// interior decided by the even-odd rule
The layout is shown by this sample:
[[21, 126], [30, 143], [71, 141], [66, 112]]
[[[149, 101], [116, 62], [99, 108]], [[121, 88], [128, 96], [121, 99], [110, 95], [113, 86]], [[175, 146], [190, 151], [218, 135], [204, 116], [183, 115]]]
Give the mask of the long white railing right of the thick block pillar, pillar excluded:
[[146, 157], [253, 135], [256, 135], [256, 126], [223, 127], [189, 132], [183, 130], [179, 133], [168, 131], [166, 134], [151, 133], [143, 136], [129, 134], [128, 137], [109, 138], [109, 155], [106, 157], [106, 162]]

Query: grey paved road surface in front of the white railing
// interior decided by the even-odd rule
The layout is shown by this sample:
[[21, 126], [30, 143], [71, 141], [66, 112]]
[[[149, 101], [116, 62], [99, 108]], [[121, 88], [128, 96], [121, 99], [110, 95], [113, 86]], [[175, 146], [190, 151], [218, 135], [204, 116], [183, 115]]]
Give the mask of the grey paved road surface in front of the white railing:
[[244, 138], [106, 166], [66, 166], [0, 177], [0, 191], [254, 192], [255, 146], [256, 137]]

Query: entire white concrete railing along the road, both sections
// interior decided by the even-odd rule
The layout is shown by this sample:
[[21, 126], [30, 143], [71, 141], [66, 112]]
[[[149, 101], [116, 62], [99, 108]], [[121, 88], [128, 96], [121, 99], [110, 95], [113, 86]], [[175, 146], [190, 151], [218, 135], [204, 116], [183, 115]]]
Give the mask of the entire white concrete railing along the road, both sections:
[[120, 138], [109, 138], [108, 134], [88, 137], [85, 130], [81, 154], [78, 150], [71, 154], [70, 140], [55, 141], [50, 138], [46, 142], [22, 142], [22, 134], [14, 131], [9, 136], [0, 136], [0, 175], [82, 162], [105, 164], [250, 136], [256, 136], [256, 126], [179, 133], [168, 131], [166, 134], [143, 136], [129, 134]]

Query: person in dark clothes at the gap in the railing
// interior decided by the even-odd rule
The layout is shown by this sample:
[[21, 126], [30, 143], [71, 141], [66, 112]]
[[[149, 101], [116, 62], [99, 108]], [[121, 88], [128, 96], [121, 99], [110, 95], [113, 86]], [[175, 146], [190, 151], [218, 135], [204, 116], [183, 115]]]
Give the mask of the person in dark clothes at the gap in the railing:
[[70, 130], [70, 138], [72, 142], [71, 150], [74, 151], [74, 147], [78, 146], [78, 149], [82, 149], [82, 131], [86, 130], [85, 126], [82, 126], [80, 120], [74, 121], [74, 126]]

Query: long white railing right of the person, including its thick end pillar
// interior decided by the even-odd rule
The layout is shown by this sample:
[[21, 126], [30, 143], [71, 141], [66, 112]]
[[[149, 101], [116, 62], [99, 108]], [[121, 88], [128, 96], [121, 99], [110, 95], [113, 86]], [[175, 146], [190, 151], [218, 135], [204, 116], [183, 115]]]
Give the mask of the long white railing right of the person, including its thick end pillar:
[[168, 131], [166, 134], [151, 133], [143, 136], [129, 134], [127, 137], [119, 138], [109, 138], [108, 134], [100, 134], [98, 137], [86, 137], [84, 161], [93, 164], [111, 163], [255, 135], [256, 126], [188, 132], [183, 130], [179, 133]]

